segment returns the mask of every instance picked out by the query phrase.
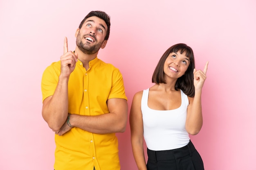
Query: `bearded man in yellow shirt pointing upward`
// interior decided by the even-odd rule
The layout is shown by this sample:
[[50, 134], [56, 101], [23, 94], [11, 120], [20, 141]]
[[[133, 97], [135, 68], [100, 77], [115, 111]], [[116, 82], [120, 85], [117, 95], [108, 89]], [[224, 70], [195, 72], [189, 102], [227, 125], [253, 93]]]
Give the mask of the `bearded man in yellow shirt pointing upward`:
[[121, 73], [97, 58], [110, 17], [91, 11], [76, 30], [75, 51], [64, 39], [61, 60], [42, 78], [42, 115], [55, 132], [55, 170], [120, 170], [115, 133], [124, 132], [127, 97]]

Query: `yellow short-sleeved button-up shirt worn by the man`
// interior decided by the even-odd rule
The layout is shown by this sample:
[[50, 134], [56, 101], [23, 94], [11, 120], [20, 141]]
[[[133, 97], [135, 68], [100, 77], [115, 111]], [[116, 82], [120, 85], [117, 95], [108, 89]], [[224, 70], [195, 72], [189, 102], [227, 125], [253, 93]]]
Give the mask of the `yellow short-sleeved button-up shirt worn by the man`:
[[[68, 113], [96, 116], [109, 113], [107, 100], [127, 100], [123, 77], [111, 64], [97, 57], [85, 70], [78, 61], [68, 82]], [[52, 63], [43, 73], [43, 100], [52, 96], [58, 83], [61, 62]], [[72, 128], [62, 136], [55, 135], [55, 170], [120, 170], [118, 141], [115, 133], [96, 134]]]

